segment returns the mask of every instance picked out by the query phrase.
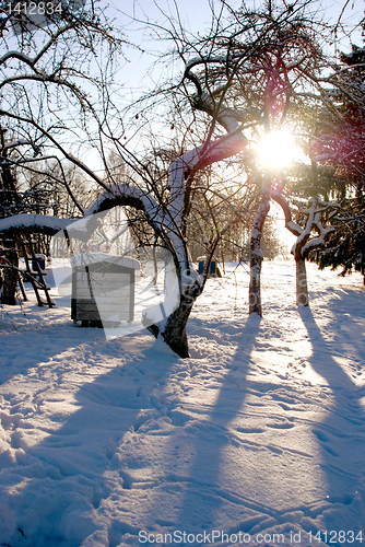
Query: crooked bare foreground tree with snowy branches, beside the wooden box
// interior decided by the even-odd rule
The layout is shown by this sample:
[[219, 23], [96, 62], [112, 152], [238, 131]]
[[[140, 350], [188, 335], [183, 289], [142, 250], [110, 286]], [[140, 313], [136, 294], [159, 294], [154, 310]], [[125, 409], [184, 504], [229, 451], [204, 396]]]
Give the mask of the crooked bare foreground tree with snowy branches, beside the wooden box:
[[[61, 121], [59, 116], [57, 117], [56, 124], [50, 123], [49, 115], [52, 110], [50, 97], [48, 97], [48, 110], [45, 110], [39, 89], [34, 91], [32, 88], [34, 96], [32, 96], [31, 100], [28, 86], [24, 83], [30, 81], [35, 81], [37, 84], [39, 83], [46, 97], [49, 86], [55, 85], [60, 93], [68, 93], [70, 95], [69, 100], [66, 102], [66, 110], [68, 110], [70, 103], [71, 105], [79, 104], [83, 121], [86, 119], [86, 116], [92, 116], [93, 120], [96, 121], [99, 119], [97, 116], [98, 113], [90, 102], [86, 93], [72, 81], [72, 77], [84, 77], [84, 73], [76, 68], [78, 58], [75, 57], [74, 62], [70, 65], [70, 59], [67, 58], [66, 51], [69, 54], [71, 46], [75, 48], [76, 45], [81, 43], [82, 47], [80, 46], [81, 49], [79, 49], [79, 51], [82, 51], [83, 56], [81, 61], [84, 62], [85, 56], [87, 58], [90, 53], [94, 53], [95, 42], [92, 42], [93, 33], [99, 35], [101, 38], [106, 37], [108, 43], [111, 44], [111, 47], [119, 46], [119, 42], [113, 38], [113, 36], [109, 36], [109, 34], [105, 34], [106, 30], [94, 19], [94, 13], [83, 13], [82, 16], [82, 20], [79, 19], [78, 21], [73, 21], [73, 19], [76, 18], [69, 14], [69, 18], [63, 23], [59, 25], [55, 23], [56, 30], [50, 30], [50, 27], [44, 30], [47, 35], [47, 40], [40, 51], [38, 50], [33, 57], [25, 55], [22, 50], [10, 50], [2, 57], [0, 65], [3, 67], [4, 71], [8, 70], [4, 67], [5, 62], [9, 59], [15, 60], [16, 74], [8, 75], [3, 73], [2, 88], [7, 89], [7, 86], [9, 86], [11, 91], [8, 92], [3, 101], [3, 105], [8, 104], [8, 108], [2, 106], [0, 115], [3, 119], [12, 121], [12, 129], [14, 132], [16, 132], [14, 124], [17, 124], [17, 142], [14, 148], [19, 149], [20, 146], [24, 146], [25, 139], [21, 140], [19, 138], [22, 132], [26, 131], [26, 133], [32, 133], [30, 147], [33, 150], [36, 146], [42, 149], [46, 147], [51, 147], [54, 150], [56, 149], [58, 154], [62, 154], [63, 159], [79, 166], [91, 181], [94, 181], [98, 187], [104, 189], [104, 193], [87, 210], [84, 210], [84, 207], [79, 203], [81, 213], [92, 216], [92, 213], [101, 212], [117, 205], [125, 205], [143, 211], [146, 221], [152, 225], [155, 233], [163, 238], [166, 246], [173, 252], [180, 282], [180, 304], [178, 309], [170, 317], [166, 318], [165, 324], [153, 325], [150, 329], [156, 336], [157, 334], [162, 334], [165, 341], [175, 351], [186, 357], [188, 354], [185, 331], [186, 322], [193, 301], [202, 290], [200, 278], [192, 270], [190, 255], [182, 234], [184, 218], [186, 214], [186, 179], [188, 176], [192, 177], [197, 171], [204, 168], [207, 165], [236, 153], [242, 147], [243, 137], [240, 132], [233, 131], [232, 135], [228, 133], [226, 137], [196, 147], [177, 158], [169, 170], [168, 185], [170, 191], [167, 202], [162, 199], [158, 185], [153, 177], [153, 173], [150, 172], [151, 170], [145, 168], [145, 166], [136, 159], [133, 171], [138, 185], [126, 183], [110, 186], [109, 183], [105, 183], [84, 163], [71, 154], [62, 142], [62, 138], [64, 139], [62, 130], [72, 131], [74, 125], [67, 125], [64, 118]], [[83, 49], [84, 44], [86, 44], [85, 51]], [[20, 46], [22, 46], [22, 44], [20, 44]], [[32, 36], [30, 36], [27, 47], [32, 46], [35, 47], [35, 43], [32, 42]], [[57, 48], [61, 50], [60, 57], [58, 57]], [[78, 51], [75, 51], [75, 55], [76, 54]], [[31, 74], [22, 71], [24, 66], [31, 68]], [[91, 81], [91, 79], [86, 79]], [[19, 84], [19, 82], [21, 83]], [[92, 80], [92, 83], [96, 85], [96, 89], [101, 89], [101, 86], [104, 85], [103, 81], [97, 81], [95, 79]], [[16, 105], [13, 102], [14, 88], [17, 92]], [[61, 105], [63, 104], [64, 103], [61, 103]], [[103, 104], [104, 107], [106, 107], [106, 105], [110, 108], [110, 103]], [[107, 121], [105, 127], [103, 127], [102, 124], [98, 125], [101, 139], [102, 136], [108, 136], [108, 129], [109, 125]], [[109, 138], [111, 142], [117, 142], [126, 155], [126, 147], [120, 147], [120, 139], [117, 140], [111, 135], [109, 135]], [[104, 142], [101, 141], [102, 153], [104, 153]], [[127, 156], [127, 164], [131, 162], [131, 156], [132, 154]], [[37, 161], [44, 158], [43, 154], [40, 158], [37, 158]], [[32, 163], [32, 159], [27, 158], [27, 166], [30, 163]], [[67, 220], [60, 221], [56, 218], [50, 219], [48, 216], [36, 214], [27, 217], [26, 214], [20, 214], [4, 219], [1, 232], [3, 236], [9, 232], [12, 234], [16, 232], [42, 232], [44, 234], [52, 234], [60, 228], [67, 226], [69, 222], [70, 221]]]

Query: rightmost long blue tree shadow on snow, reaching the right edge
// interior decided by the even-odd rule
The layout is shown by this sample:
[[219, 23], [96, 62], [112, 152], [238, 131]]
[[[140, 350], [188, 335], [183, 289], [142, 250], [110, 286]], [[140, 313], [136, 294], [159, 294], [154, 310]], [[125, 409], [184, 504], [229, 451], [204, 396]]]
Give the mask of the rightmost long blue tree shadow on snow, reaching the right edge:
[[[331, 304], [328, 309], [331, 310]], [[333, 330], [338, 330], [339, 322], [343, 321], [343, 310], [339, 310], [337, 300], [332, 311]], [[325, 395], [326, 403], [322, 407], [326, 418], [313, 427], [320, 447], [320, 467], [327, 479], [327, 501], [332, 504], [331, 512], [322, 516], [322, 527], [353, 529], [357, 533], [365, 524], [361, 508], [365, 494], [365, 412], [358, 401], [363, 389], [356, 387], [350, 369], [346, 369], [349, 356], [341, 337], [332, 336], [334, 340], [329, 344], [325, 340], [311, 311], [299, 309], [299, 314], [313, 348], [310, 365], [328, 384], [328, 387], [320, 386]], [[333, 333], [330, 329], [330, 325], [327, 325], [326, 334], [331, 337]], [[321, 406], [320, 400], [318, 404]]]

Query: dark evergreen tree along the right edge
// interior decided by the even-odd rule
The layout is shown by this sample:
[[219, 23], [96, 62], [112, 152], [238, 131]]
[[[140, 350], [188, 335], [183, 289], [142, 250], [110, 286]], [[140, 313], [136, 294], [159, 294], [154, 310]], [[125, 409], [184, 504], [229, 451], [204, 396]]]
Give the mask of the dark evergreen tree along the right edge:
[[326, 167], [327, 193], [341, 207], [331, 218], [335, 230], [315, 259], [320, 268], [342, 267], [341, 275], [353, 269], [365, 275], [365, 47], [353, 46], [341, 61], [331, 78], [333, 130], [313, 147]]

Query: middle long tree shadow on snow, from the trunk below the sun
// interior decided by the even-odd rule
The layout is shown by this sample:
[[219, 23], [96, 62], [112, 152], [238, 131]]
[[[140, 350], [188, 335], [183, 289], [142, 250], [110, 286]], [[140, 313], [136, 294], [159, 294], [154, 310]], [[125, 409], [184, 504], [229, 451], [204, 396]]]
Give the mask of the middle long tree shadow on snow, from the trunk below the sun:
[[[251, 517], [246, 527], [260, 520], [257, 511], [262, 510], [262, 505], [252, 502], [252, 499], [244, 499], [238, 481], [234, 481], [235, 475], [242, 477], [247, 473], [245, 446], [239, 439], [244, 428], [238, 423], [245, 422], [244, 406], [249, 393], [247, 374], [260, 321], [256, 314], [247, 318], [239, 336], [234, 339], [236, 353], [232, 356], [232, 364], [228, 364], [222, 380], [219, 380], [215, 400], [205, 405], [207, 411], [201, 419], [185, 428], [181, 441], [176, 442], [175, 439], [175, 446], [169, 447], [181, 454], [179, 461], [184, 461], [186, 454], [188, 464], [179, 467], [179, 475], [166, 477], [170, 482], [179, 482], [176, 492], [179, 496], [178, 512], [174, 523], [178, 531], [197, 534], [217, 529], [216, 526], [223, 526], [226, 531], [224, 515], [231, 512], [236, 523], [231, 533], [238, 532], [243, 529], [240, 519], [244, 505], [252, 509], [248, 510]], [[210, 400], [211, 395], [212, 392], [208, 394]], [[243, 451], [242, 465], [238, 467], [231, 453], [231, 449], [237, 451], [237, 447]], [[164, 522], [160, 524], [164, 525]]]

